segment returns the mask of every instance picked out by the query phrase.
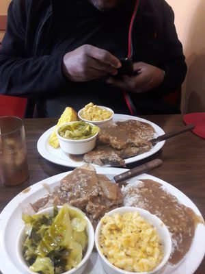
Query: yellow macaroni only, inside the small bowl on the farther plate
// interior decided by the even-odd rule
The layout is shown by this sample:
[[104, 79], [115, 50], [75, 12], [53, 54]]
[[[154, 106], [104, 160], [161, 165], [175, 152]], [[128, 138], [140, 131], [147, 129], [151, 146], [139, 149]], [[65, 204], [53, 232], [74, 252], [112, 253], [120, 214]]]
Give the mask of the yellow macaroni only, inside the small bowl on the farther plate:
[[98, 107], [93, 103], [88, 103], [85, 105], [81, 111], [81, 117], [88, 121], [104, 121], [109, 119], [112, 116], [112, 113], [109, 110]]

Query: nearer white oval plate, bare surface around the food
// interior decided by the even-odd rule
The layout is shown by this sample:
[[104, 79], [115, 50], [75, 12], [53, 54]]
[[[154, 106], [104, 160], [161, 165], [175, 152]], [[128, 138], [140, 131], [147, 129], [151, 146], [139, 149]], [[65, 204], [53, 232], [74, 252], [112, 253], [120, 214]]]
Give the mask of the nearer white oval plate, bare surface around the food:
[[[105, 174], [108, 177], [113, 177], [118, 175], [127, 169], [118, 169], [118, 168], [96, 168], [97, 173]], [[48, 193], [49, 188], [53, 189], [55, 186], [59, 185], [59, 180], [65, 177], [69, 172], [61, 173], [53, 177], [47, 178], [31, 186], [29, 191], [20, 192], [8, 206], [0, 214], [0, 269], [3, 274], [24, 274], [25, 271], [21, 268], [19, 264], [16, 252], [15, 245], [18, 233], [20, 232], [21, 227], [23, 226], [23, 221], [21, 221], [22, 208], [27, 206], [29, 202], [33, 203], [40, 197]], [[133, 179], [130, 179], [130, 182], [133, 182], [135, 179], [153, 179], [156, 182], [159, 182], [166, 188], [172, 195], [176, 196], [178, 200], [183, 203], [185, 206], [192, 208], [195, 214], [202, 216], [200, 211], [197, 209], [195, 204], [180, 190], [164, 182], [163, 180], [153, 177], [148, 174], [139, 175]], [[46, 184], [46, 188], [45, 188]], [[202, 224], [197, 225], [195, 230], [195, 236], [191, 245], [191, 249], [187, 255], [176, 265], [170, 266], [167, 265], [163, 274], [193, 274], [197, 267], [202, 262], [205, 254], [205, 226]], [[93, 251], [90, 261], [87, 265], [87, 268], [84, 272], [85, 274], [105, 274], [105, 271], [102, 269], [100, 258], [98, 254]], [[25, 273], [26, 274], [26, 273]]]

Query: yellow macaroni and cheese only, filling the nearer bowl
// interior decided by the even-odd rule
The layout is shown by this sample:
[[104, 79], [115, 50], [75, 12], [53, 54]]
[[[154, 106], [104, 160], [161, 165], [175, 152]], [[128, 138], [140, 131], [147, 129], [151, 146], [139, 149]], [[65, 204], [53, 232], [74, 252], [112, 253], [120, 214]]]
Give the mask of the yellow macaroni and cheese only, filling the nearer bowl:
[[156, 231], [139, 212], [115, 213], [102, 218], [100, 249], [116, 267], [148, 272], [163, 260], [163, 245]]

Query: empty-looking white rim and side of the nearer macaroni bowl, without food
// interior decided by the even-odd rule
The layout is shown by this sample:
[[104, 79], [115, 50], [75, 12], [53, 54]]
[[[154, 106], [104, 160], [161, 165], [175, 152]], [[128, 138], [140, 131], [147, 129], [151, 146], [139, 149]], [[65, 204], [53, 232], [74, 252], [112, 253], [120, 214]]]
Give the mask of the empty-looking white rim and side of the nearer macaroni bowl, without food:
[[[167, 229], [166, 225], [154, 214], [151, 214], [147, 210], [143, 210], [141, 208], [134, 208], [134, 207], [122, 207], [122, 208], [115, 208], [114, 210], [111, 210], [107, 213], [107, 215], [112, 216], [115, 213], [124, 214], [125, 212], [139, 212], [139, 214], [143, 217], [143, 219], [146, 219], [148, 223], [151, 223], [154, 227], [156, 227], [156, 231], [159, 234], [159, 237], [161, 238], [164, 246], [164, 257], [161, 263], [156, 266], [156, 268], [153, 271], [150, 272], [140, 272], [140, 274], [156, 274], [161, 273], [164, 268], [165, 264], [169, 260], [169, 256], [172, 251], [172, 238], [169, 234], [169, 230]], [[100, 231], [101, 231], [102, 222], [100, 221], [96, 227], [95, 232], [95, 245], [96, 249], [98, 251], [98, 254], [100, 255], [100, 260], [102, 261], [102, 266], [104, 267], [107, 274], [136, 274], [139, 272], [129, 272], [124, 271], [122, 269], [119, 269], [118, 267], [114, 266], [109, 262], [109, 260], [103, 255], [102, 251], [100, 250]]]

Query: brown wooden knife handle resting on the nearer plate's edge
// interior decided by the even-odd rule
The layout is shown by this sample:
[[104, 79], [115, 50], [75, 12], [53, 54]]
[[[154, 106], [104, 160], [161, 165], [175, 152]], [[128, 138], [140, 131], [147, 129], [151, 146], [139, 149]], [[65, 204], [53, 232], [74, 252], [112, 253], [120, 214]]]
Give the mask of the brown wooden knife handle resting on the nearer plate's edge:
[[154, 159], [150, 162], [146, 162], [146, 164], [141, 164], [140, 166], [134, 167], [133, 169], [114, 176], [113, 180], [115, 183], [121, 183], [124, 182], [126, 179], [135, 177], [141, 173], [144, 173], [145, 171], [155, 169], [157, 166], [161, 166], [161, 164], [163, 164], [163, 161], [161, 159]]

